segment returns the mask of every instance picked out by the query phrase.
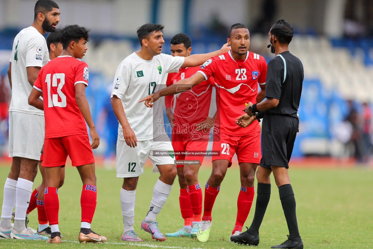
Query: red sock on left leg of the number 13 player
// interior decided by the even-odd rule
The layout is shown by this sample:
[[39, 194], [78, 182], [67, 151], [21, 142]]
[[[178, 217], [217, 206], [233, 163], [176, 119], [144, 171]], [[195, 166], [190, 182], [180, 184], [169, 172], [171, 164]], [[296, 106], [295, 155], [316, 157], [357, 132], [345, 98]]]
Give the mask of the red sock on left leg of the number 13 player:
[[53, 187], [47, 187], [44, 190], [44, 208], [49, 225], [58, 224], [58, 209], [60, 208], [60, 203], [57, 193], [58, 189]]

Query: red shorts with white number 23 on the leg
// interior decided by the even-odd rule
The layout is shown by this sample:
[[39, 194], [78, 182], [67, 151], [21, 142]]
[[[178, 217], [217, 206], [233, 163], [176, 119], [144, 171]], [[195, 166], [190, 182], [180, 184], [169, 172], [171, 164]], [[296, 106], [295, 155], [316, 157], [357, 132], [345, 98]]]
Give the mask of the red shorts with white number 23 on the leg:
[[260, 131], [247, 136], [231, 136], [220, 133], [220, 141], [214, 141], [212, 150], [220, 150], [220, 156], [213, 156], [212, 161], [226, 159], [232, 165], [232, 157], [237, 154], [238, 163], [259, 164], [261, 159]]

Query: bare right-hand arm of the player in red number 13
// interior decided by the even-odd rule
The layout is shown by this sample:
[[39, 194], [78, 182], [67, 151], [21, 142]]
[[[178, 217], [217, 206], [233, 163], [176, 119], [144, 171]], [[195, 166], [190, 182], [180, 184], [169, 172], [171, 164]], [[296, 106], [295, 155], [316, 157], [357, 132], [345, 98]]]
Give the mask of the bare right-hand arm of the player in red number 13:
[[96, 127], [91, 116], [90, 106], [88, 105], [88, 100], [85, 96], [85, 84], [77, 83], [75, 85], [75, 99], [76, 104], [78, 104], [79, 110], [82, 113], [83, 118], [85, 119], [85, 122], [87, 122], [87, 125], [90, 128], [90, 134], [92, 138], [91, 148], [96, 149], [100, 144], [100, 137], [98, 136], [98, 133], [96, 131]]

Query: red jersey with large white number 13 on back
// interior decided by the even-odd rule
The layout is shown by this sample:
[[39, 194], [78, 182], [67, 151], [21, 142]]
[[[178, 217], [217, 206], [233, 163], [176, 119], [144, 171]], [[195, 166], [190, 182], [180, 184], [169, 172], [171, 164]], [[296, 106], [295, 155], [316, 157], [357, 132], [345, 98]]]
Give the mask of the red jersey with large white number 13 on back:
[[88, 134], [75, 100], [75, 84], [88, 86], [87, 63], [59, 56], [43, 66], [34, 88], [43, 92], [45, 138]]

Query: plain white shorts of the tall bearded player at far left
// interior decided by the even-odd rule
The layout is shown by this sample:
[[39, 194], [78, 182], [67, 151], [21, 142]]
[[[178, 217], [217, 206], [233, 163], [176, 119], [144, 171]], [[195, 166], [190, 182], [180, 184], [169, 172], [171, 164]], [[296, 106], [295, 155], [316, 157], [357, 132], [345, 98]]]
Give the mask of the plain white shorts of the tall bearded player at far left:
[[44, 144], [44, 116], [9, 112], [9, 157], [40, 160]]

